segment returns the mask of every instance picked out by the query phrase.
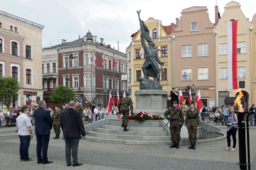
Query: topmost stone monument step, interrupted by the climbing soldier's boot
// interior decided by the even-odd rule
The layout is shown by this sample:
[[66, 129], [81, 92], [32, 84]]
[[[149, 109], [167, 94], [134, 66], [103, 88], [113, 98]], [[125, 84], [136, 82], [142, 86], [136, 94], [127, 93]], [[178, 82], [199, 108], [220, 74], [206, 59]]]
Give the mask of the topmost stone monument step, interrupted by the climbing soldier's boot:
[[[121, 123], [122, 124], [122, 123]], [[101, 125], [104, 129], [123, 130], [124, 128], [120, 125]], [[164, 131], [163, 127], [132, 127], [127, 126], [129, 131]]]

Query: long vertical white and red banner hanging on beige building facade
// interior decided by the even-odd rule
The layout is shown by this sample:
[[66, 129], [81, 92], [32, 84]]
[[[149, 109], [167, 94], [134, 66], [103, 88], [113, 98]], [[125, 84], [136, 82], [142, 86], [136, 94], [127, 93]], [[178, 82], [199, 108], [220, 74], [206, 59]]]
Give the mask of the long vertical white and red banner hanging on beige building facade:
[[238, 89], [237, 84], [237, 21], [227, 21], [228, 89]]

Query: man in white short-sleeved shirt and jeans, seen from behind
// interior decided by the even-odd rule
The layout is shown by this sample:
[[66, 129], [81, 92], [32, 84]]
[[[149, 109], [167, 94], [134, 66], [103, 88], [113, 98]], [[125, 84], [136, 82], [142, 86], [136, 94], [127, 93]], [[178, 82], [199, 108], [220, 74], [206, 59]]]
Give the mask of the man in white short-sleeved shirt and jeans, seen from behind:
[[27, 106], [21, 108], [21, 114], [17, 117], [18, 135], [20, 137], [20, 160], [30, 161], [33, 158], [28, 157], [28, 148], [30, 140], [33, 138], [32, 135], [32, 123], [28, 117], [29, 109]]

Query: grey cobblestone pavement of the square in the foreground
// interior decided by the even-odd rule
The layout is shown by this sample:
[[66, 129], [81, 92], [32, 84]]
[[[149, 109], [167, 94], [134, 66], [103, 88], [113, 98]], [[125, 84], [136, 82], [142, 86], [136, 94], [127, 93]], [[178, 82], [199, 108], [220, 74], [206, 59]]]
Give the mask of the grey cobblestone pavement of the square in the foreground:
[[[221, 126], [226, 133], [226, 127]], [[33, 127], [34, 129], [34, 127]], [[19, 157], [19, 138], [16, 127], [0, 128], [0, 167], [1, 169], [90, 169], [90, 170], [239, 170], [238, 141], [235, 152], [225, 151], [226, 140], [196, 145], [196, 150], [181, 146], [170, 149], [169, 146], [139, 146], [107, 144], [80, 140], [78, 167], [67, 167], [65, 161], [65, 142], [52, 139], [51, 131], [48, 158], [52, 164], [37, 164], [36, 135], [30, 142], [29, 154], [33, 161], [23, 162]], [[250, 129], [251, 169], [256, 170], [256, 127]], [[62, 134], [60, 134], [62, 137]], [[237, 135], [238, 139], [238, 135]], [[232, 141], [231, 141], [232, 143]]]

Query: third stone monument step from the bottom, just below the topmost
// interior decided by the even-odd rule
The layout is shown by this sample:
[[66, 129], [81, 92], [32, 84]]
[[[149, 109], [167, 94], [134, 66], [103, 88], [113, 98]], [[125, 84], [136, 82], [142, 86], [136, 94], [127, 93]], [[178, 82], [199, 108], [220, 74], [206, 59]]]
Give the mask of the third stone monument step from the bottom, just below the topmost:
[[148, 136], [164, 136], [167, 135], [165, 131], [129, 131], [124, 132], [121, 130], [113, 130], [113, 129], [104, 129], [104, 128], [94, 128], [95, 132], [99, 133], [107, 133], [107, 134], [116, 134], [116, 135], [148, 135]]

